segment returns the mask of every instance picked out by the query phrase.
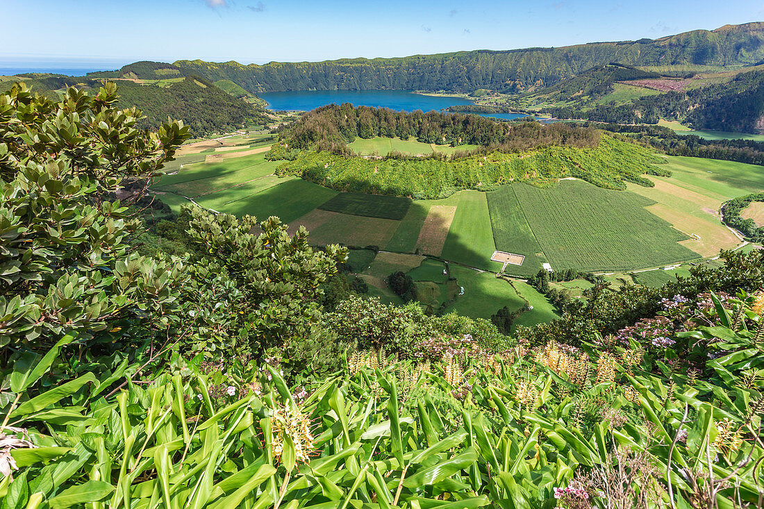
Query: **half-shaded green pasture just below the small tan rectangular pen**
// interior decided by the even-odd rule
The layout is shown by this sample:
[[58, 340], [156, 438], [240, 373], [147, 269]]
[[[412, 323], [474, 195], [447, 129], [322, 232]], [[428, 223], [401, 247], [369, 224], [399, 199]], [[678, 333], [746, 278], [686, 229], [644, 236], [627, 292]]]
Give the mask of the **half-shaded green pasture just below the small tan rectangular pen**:
[[519, 310], [525, 305], [525, 301], [514, 287], [494, 274], [451, 264], [451, 275], [456, 278], [459, 286], [465, 288], [465, 293], [456, 297], [455, 302], [448, 306], [446, 311], [489, 319], [503, 306], [509, 307], [510, 310]]

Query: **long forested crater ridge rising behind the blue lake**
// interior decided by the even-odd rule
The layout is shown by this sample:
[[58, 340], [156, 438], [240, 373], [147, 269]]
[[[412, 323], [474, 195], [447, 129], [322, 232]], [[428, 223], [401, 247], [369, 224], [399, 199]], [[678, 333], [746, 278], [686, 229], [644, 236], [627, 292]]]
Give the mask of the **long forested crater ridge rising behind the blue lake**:
[[474, 50], [400, 58], [242, 65], [178, 60], [136, 62], [96, 77], [163, 79], [201, 76], [225, 79], [248, 92], [309, 89], [426, 89], [472, 92], [491, 89], [522, 92], [552, 86], [607, 63], [689, 70], [698, 66], [752, 66], [764, 61], [764, 23], [725, 25], [656, 40], [599, 42], [523, 50]]

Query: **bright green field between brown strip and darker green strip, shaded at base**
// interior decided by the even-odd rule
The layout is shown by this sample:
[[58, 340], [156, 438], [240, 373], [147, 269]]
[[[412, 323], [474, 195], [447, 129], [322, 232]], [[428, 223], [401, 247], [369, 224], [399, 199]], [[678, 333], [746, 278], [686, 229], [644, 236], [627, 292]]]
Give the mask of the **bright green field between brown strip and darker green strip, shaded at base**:
[[456, 197], [456, 213], [451, 228], [448, 229], [441, 257], [486, 271], [498, 271], [501, 264], [490, 261], [490, 255], [494, 254], [496, 246], [494, 232], [490, 228], [486, 193], [466, 190], [458, 193]]

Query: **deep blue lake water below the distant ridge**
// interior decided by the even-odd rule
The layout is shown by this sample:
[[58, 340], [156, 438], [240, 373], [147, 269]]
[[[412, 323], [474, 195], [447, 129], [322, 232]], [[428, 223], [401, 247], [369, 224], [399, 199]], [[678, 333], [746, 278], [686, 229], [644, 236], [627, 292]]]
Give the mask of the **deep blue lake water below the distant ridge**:
[[[274, 111], [308, 112], [319, 106], [350, 102], [355, 106], [390, 108], [396, 111], [422, 112], [440, 111], [459, 104], [472, 104], [469, 99], [460, 97], [422, 96], [409, 90], [301, 90], [296, 92], [266, 92], [258, 94], [268, 102], [268, 108]], [[478, 113], [484, 117], [513, 120], [523, 118], [522, 113]]]

